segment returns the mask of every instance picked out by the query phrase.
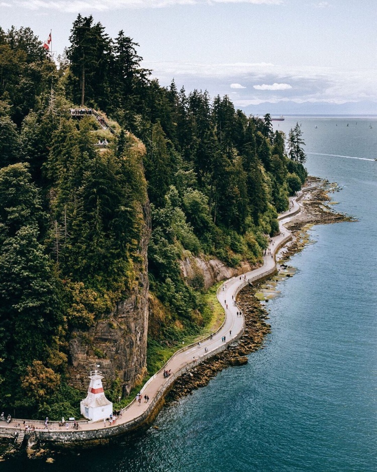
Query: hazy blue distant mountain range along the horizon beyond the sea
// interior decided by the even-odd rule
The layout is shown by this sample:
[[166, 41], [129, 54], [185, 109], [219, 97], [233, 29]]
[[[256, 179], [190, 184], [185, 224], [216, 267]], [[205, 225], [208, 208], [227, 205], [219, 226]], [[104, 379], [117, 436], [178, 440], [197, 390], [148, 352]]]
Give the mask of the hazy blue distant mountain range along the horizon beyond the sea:
[[236, 106], [247, 115], [377, 115], [377, 102], [332, 103], [261, 103], [260, 105]]

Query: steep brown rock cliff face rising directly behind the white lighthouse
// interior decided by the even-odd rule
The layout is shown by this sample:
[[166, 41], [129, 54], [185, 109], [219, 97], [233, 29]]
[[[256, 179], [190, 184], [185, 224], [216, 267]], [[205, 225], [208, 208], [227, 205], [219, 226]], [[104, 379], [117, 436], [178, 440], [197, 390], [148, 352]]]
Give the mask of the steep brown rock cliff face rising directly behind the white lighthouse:
[[[100, 364], [104, 387], [119, 379], [123, 394], [140, 381], [146, 373], [148, 331], [148, 259], [150, 236], [149, 202], [144, 205], [144, 225], [140, 240], [137, 274], [129, 296], [117, 303], [114, 311], [96, 321], [87, 331], [74, 331], [69, 343], [71, 384], [86, 390], [88, 370]], [[110, 398], [116, 400], [116, 398]]]

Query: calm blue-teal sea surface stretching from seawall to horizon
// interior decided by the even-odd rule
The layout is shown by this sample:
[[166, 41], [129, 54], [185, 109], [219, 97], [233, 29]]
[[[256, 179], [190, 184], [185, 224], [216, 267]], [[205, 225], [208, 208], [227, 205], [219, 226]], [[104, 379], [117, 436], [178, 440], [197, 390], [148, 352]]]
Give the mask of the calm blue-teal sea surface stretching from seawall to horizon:
[[377, 120], [274, 127], [296, 121], [309, 173], [336, 181], [335, 208], [358, 222], [312, 229], [316, 243], [293, 257], [296, 275], [268, 303], [267, 348], [164, 409], [158, 430], [0, 470], [377, 471]]

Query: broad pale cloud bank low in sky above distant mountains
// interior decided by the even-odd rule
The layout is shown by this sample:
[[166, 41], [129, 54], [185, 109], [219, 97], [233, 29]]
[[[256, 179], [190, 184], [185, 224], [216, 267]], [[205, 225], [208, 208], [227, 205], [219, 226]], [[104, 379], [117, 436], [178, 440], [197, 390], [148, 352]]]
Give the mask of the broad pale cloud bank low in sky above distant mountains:
[[[192, 62], [145, 62], [147, 69], [162, 85], [169, 85], [174, 77], [186, 90], [194, 88], [209, 90], [210, 94], [227, 94], [228, 84], [240, 82], [242, 100], [246, 104], [277, 101], [296, 103], [334, 103], [373, 101], [377, 102], [375, 77], [377, 70], [346, 70], [322, 66], [288, 66], [260, 63], [217, 63], [198, 64]], [[258, 90], [253, 84], [286, 84], [284, 89]], [[262, 87], [262, 86], [259, 86]], [[270, 86], [271, 87], [271, 86]], [[241, 91], [233, 89], [234, 91]], [[241, 97], [240, 97], [241, 98]], [[234, 103], [243, 106], [241, 101]], [[246, 106], [246, 105], [245, 105]]]

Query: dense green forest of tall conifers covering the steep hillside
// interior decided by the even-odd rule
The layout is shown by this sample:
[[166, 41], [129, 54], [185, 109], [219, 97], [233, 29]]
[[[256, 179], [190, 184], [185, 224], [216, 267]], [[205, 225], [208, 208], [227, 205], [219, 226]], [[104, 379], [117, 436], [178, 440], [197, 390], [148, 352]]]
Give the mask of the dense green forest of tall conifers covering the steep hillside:
[[[286, 150], [269, 115], [161, 87], [139, 45], [91, 16], [69, 39], [52, 60], [30, 28], [0, 28], [0, 391], [18, 417], [77, 411], [72, 333], [136, 283], [146, 216], [150, 298], [163, 313], [152, 352], [206, 323], [203, 279], [186, 280], [180, 261], [257, 264], [307, 177], [298, 125]], [[95, 115], [72, 118], [81, 107], [114, 132]]]

